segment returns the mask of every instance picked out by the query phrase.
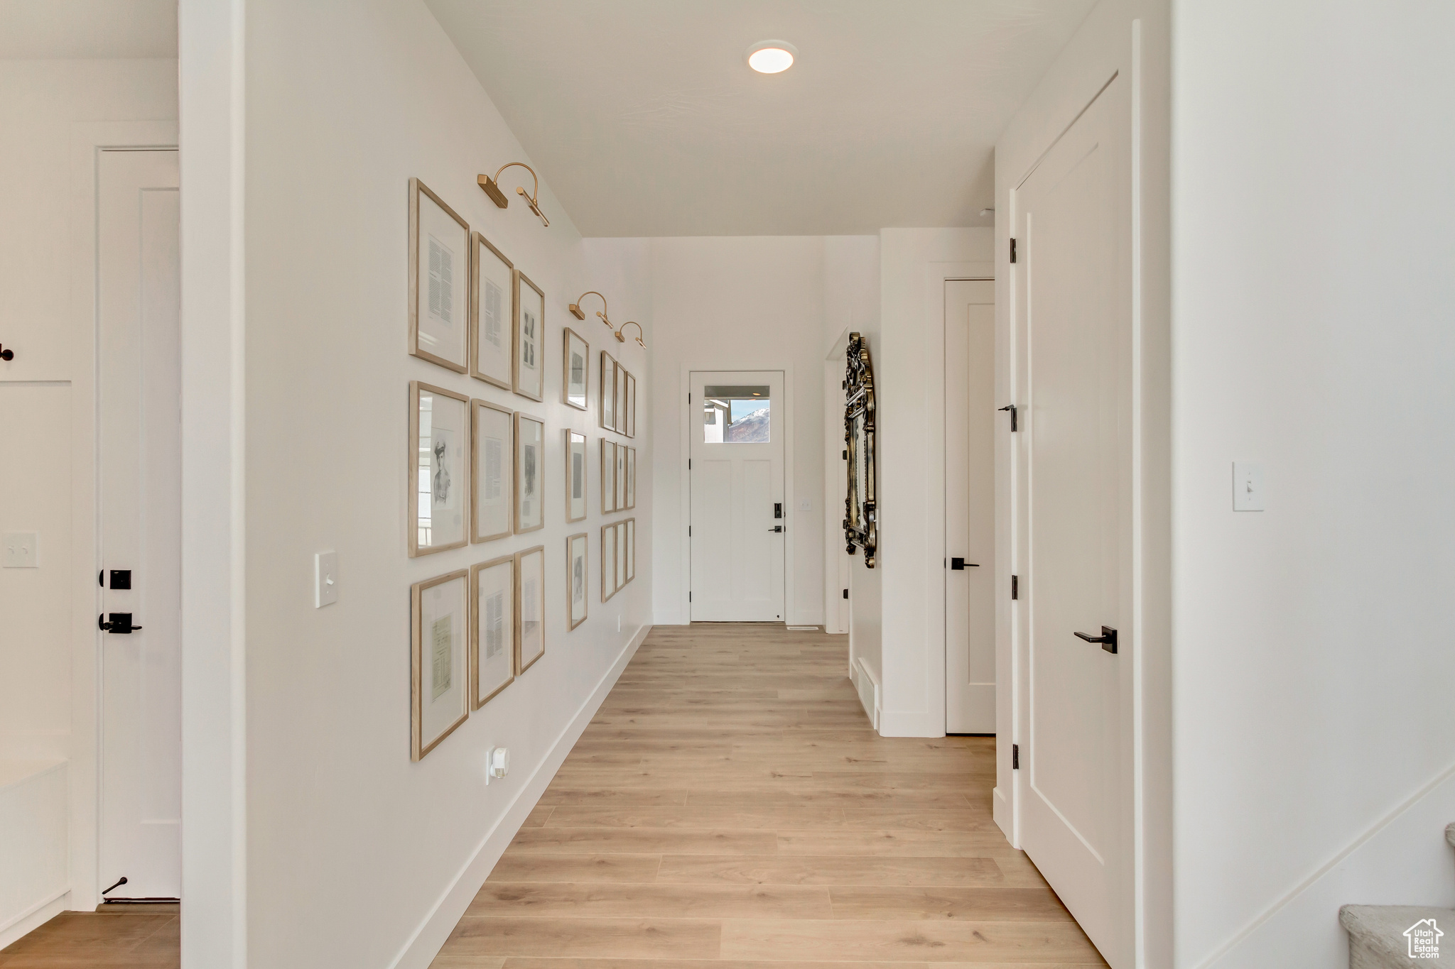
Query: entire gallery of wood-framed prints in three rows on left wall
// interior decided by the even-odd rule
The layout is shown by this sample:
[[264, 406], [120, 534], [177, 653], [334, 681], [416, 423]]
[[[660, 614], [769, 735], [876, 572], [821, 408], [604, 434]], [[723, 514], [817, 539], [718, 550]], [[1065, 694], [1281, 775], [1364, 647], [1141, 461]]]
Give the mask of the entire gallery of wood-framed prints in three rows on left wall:
[[[410, 585], [410, 757], [418, 761], [535, 667], [549, 645], [586, 623], [591, 530], [566, 535], [565, 549], [553, 540], [509, 546], [533, 532], [543, 533], [540, 540], [549, 526], [583, 523], [594, 463], [601, 513], [636, 507], [636, 447], [620, 440], [636, 436], [636, 378], [559, 327], [560, 386], [549, 388], [554, 331], [544, 289], [501, 240], [471, 231], [418, 179], [409, 180], [407, 208], [407, 352], [438, 368], [429, 369], [438, 379], [409, 381], [406, 554], [444, 552], [441, 561], [457, 565]], [[581, 427], [594, 407], [602, 430], [597, 462]], [[547, 507], [551, 481], [563, 484], [560, 511]], [[598, 540], [607, 601], [636, 575], [636, 519], [601, 524]], [[474, 546], [483, 546], [480, 554], [471, 555]], [[448, 558], [460, 549], [469, 559]], [[565, 552], [563, 569], [549, 565], [547, 549]], [[556, 581], [560, 593], [551, 591]], [[556, 642], [547, 631], [559, 631]]]

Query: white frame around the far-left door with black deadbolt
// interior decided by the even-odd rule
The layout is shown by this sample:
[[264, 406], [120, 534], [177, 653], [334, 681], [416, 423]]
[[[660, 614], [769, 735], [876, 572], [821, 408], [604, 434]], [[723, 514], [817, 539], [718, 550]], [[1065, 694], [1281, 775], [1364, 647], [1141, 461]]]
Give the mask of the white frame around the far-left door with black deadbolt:
[[71, 125], [71, 738], [70, 898], [64, 908], [100, 904], [100, 516], [97, 514], [96, 237], [97, 164], [102, 151], [178, 148], [175, 121]]

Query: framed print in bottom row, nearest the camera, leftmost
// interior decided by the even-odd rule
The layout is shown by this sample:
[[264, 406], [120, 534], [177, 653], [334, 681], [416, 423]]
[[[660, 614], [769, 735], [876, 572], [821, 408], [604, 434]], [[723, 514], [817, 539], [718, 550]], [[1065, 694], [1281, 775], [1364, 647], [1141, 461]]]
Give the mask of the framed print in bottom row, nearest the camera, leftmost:
[[426, 578], [410, 599], [410, 760], [419, 760], [470, 716], [470, 569]]

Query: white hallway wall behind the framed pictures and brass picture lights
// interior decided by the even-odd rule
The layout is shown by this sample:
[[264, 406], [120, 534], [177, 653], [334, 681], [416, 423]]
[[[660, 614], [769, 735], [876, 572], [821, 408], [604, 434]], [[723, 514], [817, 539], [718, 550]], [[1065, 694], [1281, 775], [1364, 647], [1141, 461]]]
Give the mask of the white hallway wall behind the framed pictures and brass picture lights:
[[[585, 430], [592, 456], [601, 430], [594, 410], [560, 404], [553, 363], [569, 324], [645, 376], [640, 347], [608, 344], [566, 305], [604, 289], [649, 344], [650, 307], [640, 264], [586, 251], [544, 183], [549, 230], [476, 186], [477, 173], [530, 158], [422, 3], [253, 0], [246, 36], [247, 965], [423, 966], [650, 622], [643, 477], [637, 580], [608, 604], [594, 596], [588, 622], [566, 629], [565, 538], [591, 535], [599, 588], [602, 520], [563, 520], [562, 429]], [[406, 354], [410, 176], [544, 288], [544, 402]], [[544, 530], [406, 558], [410, 379], [546, 420]], [[652, 413], [645, 379], [639, 408]], [[649, 466], [652, 423], [640, 429]], [[546, 546], [544, 658], [410, 763], [410, 583], [534, 545]], [[340, 594], [316, 610], [313, 554], [324, 549], [339, 554]], [[511, 748], [511, 776], [486, 787], [496, 744]]]

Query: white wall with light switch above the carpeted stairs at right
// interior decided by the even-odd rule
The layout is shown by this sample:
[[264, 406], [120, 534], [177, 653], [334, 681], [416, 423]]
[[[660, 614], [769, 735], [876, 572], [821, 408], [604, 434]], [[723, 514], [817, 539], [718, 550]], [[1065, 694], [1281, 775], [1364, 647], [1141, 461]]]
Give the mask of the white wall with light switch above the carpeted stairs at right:
[[1301, 893], [1455, 764], [1455, 9], [1174, 25], [1177, 965], [1342, 965], [1337, 904], [1455, 905], [1448, 783]]

